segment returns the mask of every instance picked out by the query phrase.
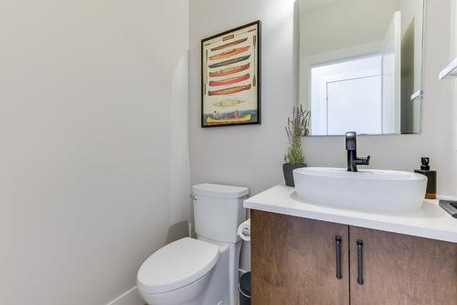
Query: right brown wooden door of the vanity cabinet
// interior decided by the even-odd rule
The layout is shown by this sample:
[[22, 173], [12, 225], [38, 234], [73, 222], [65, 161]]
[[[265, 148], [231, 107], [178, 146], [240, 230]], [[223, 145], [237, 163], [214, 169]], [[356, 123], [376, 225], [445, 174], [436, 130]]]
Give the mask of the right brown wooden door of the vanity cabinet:
[[356, 226], [349, 232], [351, 305], [457, 304], [457, 244]]

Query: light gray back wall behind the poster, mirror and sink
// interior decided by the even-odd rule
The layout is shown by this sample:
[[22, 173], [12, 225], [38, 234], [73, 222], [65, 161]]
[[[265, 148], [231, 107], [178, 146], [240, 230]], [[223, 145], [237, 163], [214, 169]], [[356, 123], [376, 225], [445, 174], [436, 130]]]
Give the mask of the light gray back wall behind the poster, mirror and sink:
[[[282, 181], [284, 124], [297, 100], [297, 10], [293, 0], [201, 0], [190, 4], [189, 137], [191, 183], [250, 186], [251, 194]], [[425, 26], [424, 100], [419, 135], [359, 139], [374, 168], [412, 171], [421, 155], [438, 170], [438, 192], [454, 193], [451, 83], [438, 80], [449, 60], [450, 1], [428, 1]], [[201, 38], [262, 21], [262, 125], [201, 129]], [[307, 163], [345, 166], [343, 137], [306, 138]]]

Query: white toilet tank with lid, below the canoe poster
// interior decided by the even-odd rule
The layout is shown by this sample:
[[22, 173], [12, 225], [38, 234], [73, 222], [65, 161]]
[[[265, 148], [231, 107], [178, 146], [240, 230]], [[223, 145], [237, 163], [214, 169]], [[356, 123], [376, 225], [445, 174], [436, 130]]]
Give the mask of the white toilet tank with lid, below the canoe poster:
[[197, 236], [226, 243], [237, 242], [238, 226], [246, 220], [243, 200], [249, 192], [247, 187], [231, 185], [192, 186]]

